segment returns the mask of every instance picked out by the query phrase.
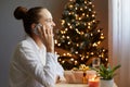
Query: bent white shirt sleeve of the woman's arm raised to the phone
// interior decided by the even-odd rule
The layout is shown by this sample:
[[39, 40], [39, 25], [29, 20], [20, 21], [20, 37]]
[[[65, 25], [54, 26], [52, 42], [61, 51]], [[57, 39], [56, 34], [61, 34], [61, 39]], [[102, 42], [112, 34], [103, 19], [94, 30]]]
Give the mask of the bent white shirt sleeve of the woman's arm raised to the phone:
[[56, 58], [53, 53], [47, 53], [46, 65], [41, 63], [36, 51], [24, 46], [20, 50], [21, 62], [27, 75], [30, 75], [37, 82], [46, 87], [54, 87], [56, 82]]

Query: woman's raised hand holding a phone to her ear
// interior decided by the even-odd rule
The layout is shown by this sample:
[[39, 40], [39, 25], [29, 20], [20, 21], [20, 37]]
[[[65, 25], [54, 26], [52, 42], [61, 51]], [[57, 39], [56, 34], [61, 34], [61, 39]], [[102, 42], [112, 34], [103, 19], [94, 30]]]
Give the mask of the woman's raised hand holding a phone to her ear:
[[37, 24], [34, 33], [40, 37], [48, 52], [54, 52], [53, 29], [46, 25]]

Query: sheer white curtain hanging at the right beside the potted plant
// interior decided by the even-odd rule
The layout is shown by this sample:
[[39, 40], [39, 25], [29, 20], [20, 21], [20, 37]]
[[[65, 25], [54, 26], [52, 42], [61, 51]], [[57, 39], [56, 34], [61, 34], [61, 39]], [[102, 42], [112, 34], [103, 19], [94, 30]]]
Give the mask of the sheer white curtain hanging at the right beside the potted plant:
[[108, 0], [108, 48], [112, 65], [121, 64], [115, 76], [118, 87], [130, 87], [130, 0]]

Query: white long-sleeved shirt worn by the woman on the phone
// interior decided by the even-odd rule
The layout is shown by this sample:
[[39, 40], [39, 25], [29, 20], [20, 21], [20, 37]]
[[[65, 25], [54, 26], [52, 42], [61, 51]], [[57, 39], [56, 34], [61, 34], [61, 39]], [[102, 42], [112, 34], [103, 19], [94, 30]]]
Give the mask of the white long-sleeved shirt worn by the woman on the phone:
[[10, 87], [54, 87], [56, 76], [63, 76], [56, 54], [40, 49], [27, 38], [17, 45], [10, 64]]

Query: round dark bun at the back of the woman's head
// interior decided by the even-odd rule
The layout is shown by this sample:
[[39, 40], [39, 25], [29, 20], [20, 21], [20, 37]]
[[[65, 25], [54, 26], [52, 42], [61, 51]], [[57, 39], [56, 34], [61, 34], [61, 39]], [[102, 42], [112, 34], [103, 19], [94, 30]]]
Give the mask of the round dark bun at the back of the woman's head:
[[17, 20], [23, 20], [26, 17], [27, 9], [23, 7], [17, 7], [14, 11], [14, 17]]

